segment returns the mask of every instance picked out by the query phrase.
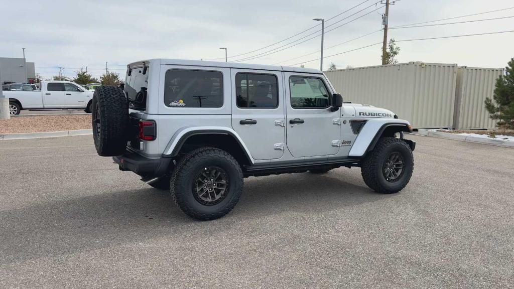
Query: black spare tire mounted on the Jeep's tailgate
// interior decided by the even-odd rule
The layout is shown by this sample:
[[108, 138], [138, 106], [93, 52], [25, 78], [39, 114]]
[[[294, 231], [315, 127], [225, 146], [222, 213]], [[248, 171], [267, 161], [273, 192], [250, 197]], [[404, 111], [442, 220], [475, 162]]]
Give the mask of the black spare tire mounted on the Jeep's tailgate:
[[101, 156], [125, 152], [129, 125], [125, 93], [118, 86], [102, 85], [95, 89], [91, 110], [93, 139]]

